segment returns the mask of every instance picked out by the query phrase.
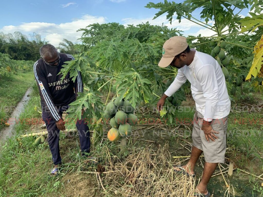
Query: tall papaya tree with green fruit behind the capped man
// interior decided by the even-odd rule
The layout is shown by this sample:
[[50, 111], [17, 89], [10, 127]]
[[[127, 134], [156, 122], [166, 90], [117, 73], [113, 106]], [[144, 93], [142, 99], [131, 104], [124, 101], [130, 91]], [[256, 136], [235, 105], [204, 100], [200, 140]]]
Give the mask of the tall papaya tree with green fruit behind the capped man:
[[[241, 86], [242, 91], [242, 82], [249, 79], [250, 74], [246, 78], [247, 69], [252, 61], [252, 46], [255, 45], [255, 39], [252, 39], [249, 33], [259, 26], [258, 23], [262, 23], [260, 13], [263, 8], [260, 5], [262, 1], [186, 0], [183, 3], [175, 3], [165, 0], [164, 3], [150, 2], [145, 7], [160, 9], [154, 19], [166, 13], [170, 23], [173, 22], [175, 15], [179, 23], [182, 18], [187, 19], [214, 32], [214, 35], [208, 37], [189, 36], [188, 43], [197, 50], [211, 54], [218, 61], [225, 75], [229, 94], [233, 95], [232, 90], [235, 91], [236, 86]], [[247, 17], [241, 18], [240, 12], [244, 9], [254, 11], [254, 13], [250, 12], [254, 17], [252, 17], [254, 23], [251, 24]], [[192, 15], [197, 10], [200, 10], [199, 18]], [[243, 21], [247, 23], [244, 24]]]

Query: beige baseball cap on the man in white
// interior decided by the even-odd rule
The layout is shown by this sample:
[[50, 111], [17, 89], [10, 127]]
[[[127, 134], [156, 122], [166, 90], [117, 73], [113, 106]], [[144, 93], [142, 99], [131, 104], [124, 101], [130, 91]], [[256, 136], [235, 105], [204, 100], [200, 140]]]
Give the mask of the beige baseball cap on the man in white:
[[163, 57], [159, 61], [158, 66], [162, 68], [169, 66], [174, 57], [182, 53], [187, 47], [188, 44], [185, 37], [174, 36], [169, 38], [163, 45]]

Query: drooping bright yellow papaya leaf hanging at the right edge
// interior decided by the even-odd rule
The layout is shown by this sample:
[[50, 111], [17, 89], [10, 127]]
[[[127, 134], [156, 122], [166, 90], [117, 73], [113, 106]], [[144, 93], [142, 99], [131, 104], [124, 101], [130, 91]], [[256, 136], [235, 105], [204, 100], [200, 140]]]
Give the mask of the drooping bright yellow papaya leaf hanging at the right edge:
[[249, 70], [249, 73], [246, 76], [246, 80], [250, 79], [251, 75], [256, 77], [257, 75], [262, 74], [260, 69], [263, 65], [263, 63], [262, 63], [262, 61], [263, 61], [263, 34], [262, 34], [260, 40], [256, 43], [253, 53], [255, 53], [254, 59], [252, 62], [252, 66]]

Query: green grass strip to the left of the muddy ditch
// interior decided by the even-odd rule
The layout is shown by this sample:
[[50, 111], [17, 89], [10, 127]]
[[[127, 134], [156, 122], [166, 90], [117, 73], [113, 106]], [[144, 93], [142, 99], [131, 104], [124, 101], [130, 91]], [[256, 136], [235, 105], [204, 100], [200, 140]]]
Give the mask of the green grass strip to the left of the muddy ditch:
[[34, 80], [33, 72], [0, 77], [0, 129]]

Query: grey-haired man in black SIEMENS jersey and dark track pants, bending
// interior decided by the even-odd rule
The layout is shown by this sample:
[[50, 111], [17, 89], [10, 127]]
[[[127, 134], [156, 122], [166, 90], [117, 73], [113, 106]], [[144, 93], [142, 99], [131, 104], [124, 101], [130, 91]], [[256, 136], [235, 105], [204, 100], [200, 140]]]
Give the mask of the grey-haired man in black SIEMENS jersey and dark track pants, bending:
[[[61, 163], [59, 131], [65, 130], [62, 113], [68, 109], [71, 102], [76, 100], [77, 93], [83, 92], [82, 76], [78, 71], [78, 76], [73, 82], [69, 72], [64, 79], [62, 79], [61, 74], [58, 75], [65, 61], [74, 60], [72, 55], [58, 53], [57, 49], [51, 44], [43, 45], [39, 52], [41, 59], [34, 64], [34, 75], [41, 97], [42, 119], [47, 126], [48, 144], [55, 165], [51, 170], [51, 174], [57, 174], [58, 165]], [[83, 119], [77, 121], [76, 126], [81, 151], [83, 154], [89, 153], [89, 127]]]

